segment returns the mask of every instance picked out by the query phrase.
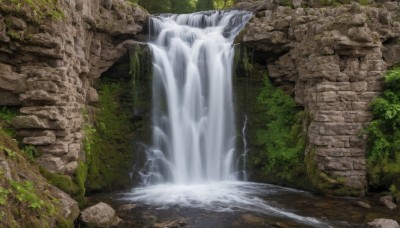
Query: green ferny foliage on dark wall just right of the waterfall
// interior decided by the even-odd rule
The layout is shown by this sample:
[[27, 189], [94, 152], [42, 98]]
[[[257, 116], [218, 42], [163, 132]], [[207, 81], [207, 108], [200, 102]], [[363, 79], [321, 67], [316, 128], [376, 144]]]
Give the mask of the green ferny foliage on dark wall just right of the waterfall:
[[266, 178], [273, 182], [292, 185], [306, 182], [306, 112], [297, 107], [292, 97], [273, 86], [267, 76], [258, 101], [266, 108], [263, 121], [266, 125], [257, 131], [263, 153], [253, 159], [254, 165], [261, 166]]

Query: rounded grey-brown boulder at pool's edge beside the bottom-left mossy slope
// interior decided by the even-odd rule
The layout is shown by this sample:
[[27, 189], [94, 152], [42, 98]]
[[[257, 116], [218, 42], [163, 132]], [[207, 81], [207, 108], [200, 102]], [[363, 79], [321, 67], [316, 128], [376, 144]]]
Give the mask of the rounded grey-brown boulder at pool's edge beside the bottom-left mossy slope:
[[114, 209], [103, 202], [83, 210], [80, 220], [88, 226], [94, 227], [116, 226], [121, 221], [116, 216]]

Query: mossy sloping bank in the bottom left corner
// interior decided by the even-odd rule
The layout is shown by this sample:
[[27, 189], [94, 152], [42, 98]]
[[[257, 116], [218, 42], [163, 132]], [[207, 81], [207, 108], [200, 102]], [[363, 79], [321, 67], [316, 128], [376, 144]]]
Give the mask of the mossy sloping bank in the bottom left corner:
[[[1, 130], [0, 147], [3, 148], [0, 160], [5, 161], [11, 171], [10, 179], [5, 175], [7, 171], [0, 168], [0, 226], [42, 228], [65, 220], [63, 206], [53, 200], [56, 194], [49, 190], [38, 165], [29, 161], [19, 149], [18, 142]], [[9, 157], [5, 150], [11, 151], [13, 157]]]

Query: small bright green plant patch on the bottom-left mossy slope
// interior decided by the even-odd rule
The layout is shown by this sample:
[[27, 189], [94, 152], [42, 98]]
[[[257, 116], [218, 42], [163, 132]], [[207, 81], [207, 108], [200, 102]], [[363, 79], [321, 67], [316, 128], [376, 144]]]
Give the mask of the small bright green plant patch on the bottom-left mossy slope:
[[37, 210], [45, 205], [44, 201], [36, 195], [32, 182], [11, 181], [11, 186], [16, 191], [16, 198], [21, 203], [27, 203], [29, 208]]

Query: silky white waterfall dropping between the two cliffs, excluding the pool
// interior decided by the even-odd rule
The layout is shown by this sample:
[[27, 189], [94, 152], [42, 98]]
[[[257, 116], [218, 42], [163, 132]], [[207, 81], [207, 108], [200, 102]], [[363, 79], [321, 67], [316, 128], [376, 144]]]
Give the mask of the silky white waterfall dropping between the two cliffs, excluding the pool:
[[250, 17], [237, 10], [151, 17], [153, 142], [145, 184], [235, 180], [232, 43]]

